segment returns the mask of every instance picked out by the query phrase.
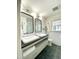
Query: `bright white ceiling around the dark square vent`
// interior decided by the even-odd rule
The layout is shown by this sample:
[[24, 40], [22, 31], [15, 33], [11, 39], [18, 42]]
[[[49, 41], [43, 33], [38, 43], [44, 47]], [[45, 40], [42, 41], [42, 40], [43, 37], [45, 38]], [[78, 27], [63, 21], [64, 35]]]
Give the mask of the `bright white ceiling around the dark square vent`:
[[[28, 9], [31, 13], [36, 13], [42, 16], [54, 15], [61, 12], [61, 0], [22, 0], [21, 11]], [[58, 6], [57, 11], [53, 11], [54, 7]]]

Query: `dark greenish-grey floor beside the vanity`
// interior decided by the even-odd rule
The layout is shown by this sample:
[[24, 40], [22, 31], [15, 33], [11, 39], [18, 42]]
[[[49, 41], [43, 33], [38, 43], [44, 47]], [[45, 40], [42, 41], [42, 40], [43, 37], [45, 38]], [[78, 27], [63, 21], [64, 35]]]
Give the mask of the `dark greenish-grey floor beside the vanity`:
[[61, 59], [61, 46], [47, 46], [35, 59]]

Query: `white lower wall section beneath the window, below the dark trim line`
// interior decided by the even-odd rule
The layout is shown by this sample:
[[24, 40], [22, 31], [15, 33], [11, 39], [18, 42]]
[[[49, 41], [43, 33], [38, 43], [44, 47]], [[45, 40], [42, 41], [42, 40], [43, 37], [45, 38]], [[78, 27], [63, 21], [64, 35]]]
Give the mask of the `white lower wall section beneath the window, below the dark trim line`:
[[49, 40], [52, 43], [61, 46], [61, 32], [49, 32]]

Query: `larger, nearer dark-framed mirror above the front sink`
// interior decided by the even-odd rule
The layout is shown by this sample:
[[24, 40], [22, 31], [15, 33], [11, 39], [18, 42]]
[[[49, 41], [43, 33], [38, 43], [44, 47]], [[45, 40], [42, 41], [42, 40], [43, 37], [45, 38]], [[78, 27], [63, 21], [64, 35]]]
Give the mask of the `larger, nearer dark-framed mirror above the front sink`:
[[21, 33], [25, 35], [32, 32], [33, 32], [33, 17], [22, 12], [21, 13]]

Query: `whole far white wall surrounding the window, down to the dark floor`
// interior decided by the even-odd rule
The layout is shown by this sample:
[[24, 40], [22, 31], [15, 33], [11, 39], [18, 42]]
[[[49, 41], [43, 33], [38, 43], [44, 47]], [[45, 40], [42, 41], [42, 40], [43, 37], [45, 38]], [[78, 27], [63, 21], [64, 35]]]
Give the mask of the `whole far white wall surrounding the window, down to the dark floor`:
[[47, 20], [49, 40], [58, 46], [61, 46], [61, 32], [52, 31], [52, 22], [60, 19], [61, 19], [61, 15], [59, 13], [54, 16], [50, 16]]

